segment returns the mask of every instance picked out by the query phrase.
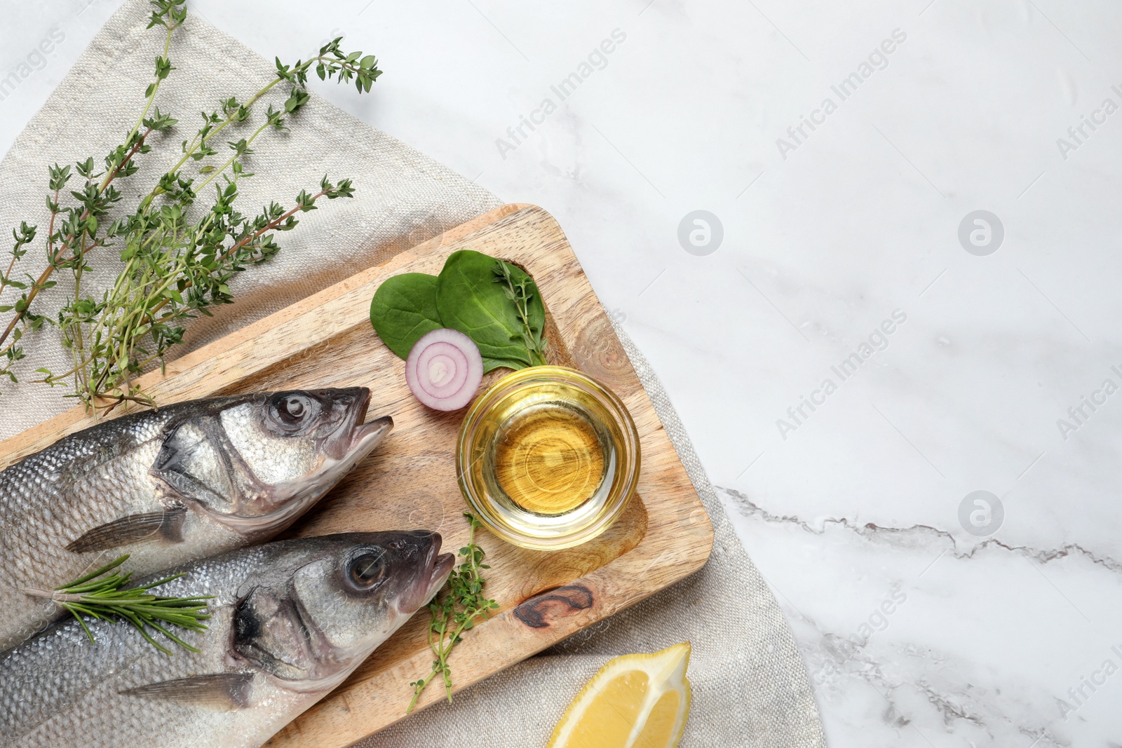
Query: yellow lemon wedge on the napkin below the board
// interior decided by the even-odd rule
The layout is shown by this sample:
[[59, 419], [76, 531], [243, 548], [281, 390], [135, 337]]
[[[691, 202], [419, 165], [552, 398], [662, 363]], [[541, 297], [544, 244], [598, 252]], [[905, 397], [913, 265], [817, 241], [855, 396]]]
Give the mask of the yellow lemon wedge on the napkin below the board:
[[569, 704], [546, 748], [674, 748], [690, 713], [690, 643], [608, 661]]

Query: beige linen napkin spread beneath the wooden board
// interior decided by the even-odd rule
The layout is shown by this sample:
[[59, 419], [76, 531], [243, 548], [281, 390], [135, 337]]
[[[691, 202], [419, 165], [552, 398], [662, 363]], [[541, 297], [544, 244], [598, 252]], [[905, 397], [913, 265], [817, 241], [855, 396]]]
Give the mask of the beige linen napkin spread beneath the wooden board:
[[[159, 44], [157, 31], [145, 30], [147, 16], [144, 0], [126, 2], [0, 161], [4, 234], [21, 219], [43, 221], [48, 164], [91, 155], [100, 159], [131, 127]], [[272, 77], [268, 61], [197, 16], [177, 35], [171, 56], [178, 70], [157, 103], [178, 117], [181, 127], [164, 144], [171, 148], [142, 159], [140, 173], [121, 183], [127, 198], [135, 200], [137, 192], [129, 184], [150, 184], [169, 166], [168, 153], [194, 131], [196, 112], [214, 108], [221, 96], [245, 99]], [[238, 278], [236, 304], [188, 326], [181, 353], [500, 204], [314, 95], [300, 122], [278, 140], [263, 142], [251, 157], [257, 176], [242, 188], [243, 212], [274, 198], [291, 203], [324, 173], [353, 177], [356, 197], [324, 201], [321, 210], [304, 214], [295, 231], [279, 237], [284, 249], [273, 261]], [[43, 260], [29, 253], [25, 266], [38, 271]], [[91, 287], [111, 279], [111, 270], [86, 276]], [[55, 308], [66, 292], [61, 283], [42, 297], [40, 308]], [[0, 324], [6, 323], [0, 315]], [[657, 378], [618, 332], [712, 519], [716, 543], [709, 563], [673, 588], [465, 691], [453, 704], [433, 707], [370, 738], [362, 744], [367, 748], [476, 745], [478, 736], [495, 747], [542, 746], [569, 700], [609, 657], [687, 639], [693, 644], [693, 709], [682, 746], [825, 746], [806, 669], [779, 606], [734, 535]], [[29, 338], [25, 347], [35, 361], [31, 368], [44, 360], [65, 364], [49, 332]], [[0, 437], [71, 405], [59, 390], [36, 385], [4, 384], [3, 393]]]

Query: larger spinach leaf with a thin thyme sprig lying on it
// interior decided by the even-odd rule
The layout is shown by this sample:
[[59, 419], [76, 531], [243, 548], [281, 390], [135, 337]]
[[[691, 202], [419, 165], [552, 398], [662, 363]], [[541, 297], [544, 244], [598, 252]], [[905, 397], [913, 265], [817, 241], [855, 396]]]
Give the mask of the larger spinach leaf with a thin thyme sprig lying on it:
[[545, 306], [536, 284], [519, 268], [481, 252], [452, 252], [436, 279], [443, 324], [479, 347], [484, 370], [545, 363]]

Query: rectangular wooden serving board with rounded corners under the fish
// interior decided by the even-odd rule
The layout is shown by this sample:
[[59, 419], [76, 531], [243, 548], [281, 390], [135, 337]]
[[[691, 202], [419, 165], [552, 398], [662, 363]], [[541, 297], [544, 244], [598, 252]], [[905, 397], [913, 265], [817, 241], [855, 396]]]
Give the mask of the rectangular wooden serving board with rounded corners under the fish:
[[[532, 205], [496, 209], [139, 382], [157, 403], [251, 390], [369, 387], [370, 417], [392, 415], [394, 431], [289, 535], [424, 528], [439, 530], [444, 548], [454, 552], [467, 538], [454, 462], [463, 413], [438, 414], [417, 403], [405, 385], [404, 361], [374, 334], [369, 306], [386, 278], [436, 274], [458, 249], [505, 258], [534, 277], [548, 308], [551, 362], [581, 369], [619, 395], [638, 427], [642, 471], [638, 495], [623, 518], [585, 545], [535, 552], [480, 533], [478, 542], [491, 565], [487, 592], [500, 607], [452, 655], [457, 690], [697, 571], [712, 547], [712, 527], [686, 469], [549, 213]], [[488, 375], [485, 385], [500, 373]], [[80, 408], [52, 418], [0, 443], [0, 467], [91, 424]], [[403, 719], [412, 694], [408, 683], [431, 665], [427, 622], [426, 611], [415, 616], [268, 745], [341, 748]], [[430, 685], [420, 707], [443, 698], [439, 685]]]

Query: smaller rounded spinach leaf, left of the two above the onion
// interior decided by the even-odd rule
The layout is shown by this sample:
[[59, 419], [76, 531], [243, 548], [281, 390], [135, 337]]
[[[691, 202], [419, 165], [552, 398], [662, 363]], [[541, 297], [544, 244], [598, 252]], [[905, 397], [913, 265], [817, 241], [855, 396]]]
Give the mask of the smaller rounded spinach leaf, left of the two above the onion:
[[405, 273], [385, 280], [370, 301], [370, 324], [401, 358], [422, 335], [444, 326], [436, 311], [436, 276]]

